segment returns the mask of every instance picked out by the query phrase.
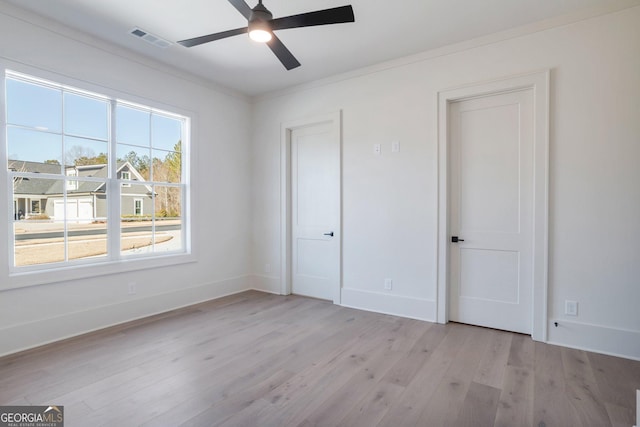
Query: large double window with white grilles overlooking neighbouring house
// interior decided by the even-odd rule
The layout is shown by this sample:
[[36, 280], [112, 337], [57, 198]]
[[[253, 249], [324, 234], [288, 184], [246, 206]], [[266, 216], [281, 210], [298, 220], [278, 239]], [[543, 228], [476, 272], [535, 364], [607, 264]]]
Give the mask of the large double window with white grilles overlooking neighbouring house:
[[189, 119], [7, 71], [14, 272], [189, 252]]

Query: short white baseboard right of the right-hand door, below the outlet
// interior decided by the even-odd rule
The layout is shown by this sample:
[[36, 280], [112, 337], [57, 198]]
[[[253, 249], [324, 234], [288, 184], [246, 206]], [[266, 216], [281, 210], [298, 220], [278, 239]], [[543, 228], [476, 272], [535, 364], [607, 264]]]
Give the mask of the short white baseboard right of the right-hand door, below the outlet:
[[549, 344], [640, 360], [640, 331], [551, 319], [548, 338]]

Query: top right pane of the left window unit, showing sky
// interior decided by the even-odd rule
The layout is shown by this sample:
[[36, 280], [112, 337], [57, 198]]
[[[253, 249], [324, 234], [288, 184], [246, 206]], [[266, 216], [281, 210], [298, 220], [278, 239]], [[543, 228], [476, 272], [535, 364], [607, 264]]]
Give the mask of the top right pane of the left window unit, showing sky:
[[64, 133], [106, 140], [108, 104], [74, 93], [64, 94]]

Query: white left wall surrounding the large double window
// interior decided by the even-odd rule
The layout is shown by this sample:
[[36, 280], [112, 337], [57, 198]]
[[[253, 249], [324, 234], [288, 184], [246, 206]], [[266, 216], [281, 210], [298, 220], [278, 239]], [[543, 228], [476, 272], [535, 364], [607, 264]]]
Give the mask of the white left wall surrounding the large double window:
[[[250, 287], [247, 99], [4, 3], [0, 67], [186, 110], [194, 118], [197, 152], [197, 262], [81, 280], [59, 272], [58, 283], [0, 291], [0, 355]], [[0, 200], [7, 206], [6, 185], [0, 186]], [[3, 224], [8, 211], [0, 213]], [[6, 246], [0, 249], [5, 260]], [[137, 282], [133, 296], [127, 295], [130, 281]], [[8, 282], [3, 266], [0, 288]]]

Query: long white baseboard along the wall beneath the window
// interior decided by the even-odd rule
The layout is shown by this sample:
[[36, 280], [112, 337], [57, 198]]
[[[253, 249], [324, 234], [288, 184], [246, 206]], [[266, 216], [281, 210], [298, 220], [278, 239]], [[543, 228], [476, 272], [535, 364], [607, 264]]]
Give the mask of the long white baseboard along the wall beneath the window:
[[250, 276], [0, 328], [0, 356], [251, 289]]

